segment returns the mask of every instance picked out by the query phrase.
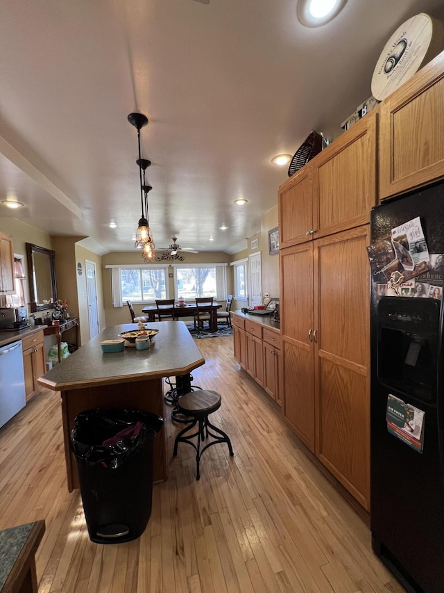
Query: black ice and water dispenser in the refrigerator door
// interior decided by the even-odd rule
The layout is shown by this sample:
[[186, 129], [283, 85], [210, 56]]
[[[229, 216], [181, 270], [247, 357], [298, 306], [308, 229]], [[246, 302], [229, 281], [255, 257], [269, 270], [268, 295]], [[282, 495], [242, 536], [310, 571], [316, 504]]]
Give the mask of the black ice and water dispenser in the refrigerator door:
[[383, 297], [377, 304], [379, 381], [427, 403], [436, 401], [440, 304], [409, 297]]

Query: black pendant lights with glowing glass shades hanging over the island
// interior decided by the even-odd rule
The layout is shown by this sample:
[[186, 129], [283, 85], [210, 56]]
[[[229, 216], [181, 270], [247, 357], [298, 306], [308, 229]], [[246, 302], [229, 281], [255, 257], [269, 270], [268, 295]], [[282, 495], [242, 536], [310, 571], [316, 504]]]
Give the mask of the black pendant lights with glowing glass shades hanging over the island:
[[130, 113], [128, 115], [128, 122], [137, 129], [137, 145], [139, 148], [139, 159], [136, 163], [139, 167], [139, 181], [140, 181], [140, 203], [142, 214], [137, 225], [136, 240], [134, 246], [136, 249], [142, 248], [142, 257], [144, 261], [152, 261], [155, 258], [155, 245], [153, 241], [153, 234], [148, 223], [148, 192], [153, 189], [151, 186], [145, 184], [145, 171], [151, 165], [151, 161], [142, 159], [140, 151], [140, 130], [148, 124], [148, 117], [142, 113]]

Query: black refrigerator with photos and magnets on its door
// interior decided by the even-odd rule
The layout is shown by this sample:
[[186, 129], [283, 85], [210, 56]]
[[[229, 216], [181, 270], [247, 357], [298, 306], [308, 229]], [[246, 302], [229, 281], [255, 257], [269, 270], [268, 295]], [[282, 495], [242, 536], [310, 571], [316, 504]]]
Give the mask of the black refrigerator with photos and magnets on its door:
[[[418, 234], [416, 247], [412, 237], [401, 247], [391, 242], [392, 229], [406, 223]], [[439, 254], [444, 254], [444, 183], [376, 206], [371, 245], [381, 249], [380, 265], [372, 266], [370, 284], [373, 551], [407, 591], [443, 593], [444, 258]], [[387, 270], [402, 270], [404, 250], [409, 257], [415, 249], [428, 250], [429, 269], [413, 276], [416, 268], [407, 265], [408, 282], [386, 284]]]

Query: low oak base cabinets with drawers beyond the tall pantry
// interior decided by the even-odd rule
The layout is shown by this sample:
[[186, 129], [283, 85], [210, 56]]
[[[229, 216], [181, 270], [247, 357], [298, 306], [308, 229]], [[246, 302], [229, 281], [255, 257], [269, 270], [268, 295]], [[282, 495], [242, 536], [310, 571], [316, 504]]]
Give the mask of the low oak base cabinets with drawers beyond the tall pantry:
[[278, 404], [282, 393], [280, 332], [232, 314], [234, 358]]

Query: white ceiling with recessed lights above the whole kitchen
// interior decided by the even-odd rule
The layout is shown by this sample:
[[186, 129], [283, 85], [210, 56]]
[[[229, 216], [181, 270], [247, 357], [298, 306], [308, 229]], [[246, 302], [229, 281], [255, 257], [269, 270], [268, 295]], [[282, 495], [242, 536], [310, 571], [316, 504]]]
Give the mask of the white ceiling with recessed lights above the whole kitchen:
[[138, 111], [157, 247], [232, 252], [287, 178], [271, 157], [312, 129], [339, 136], [420, 12], [444, 20], [443, 0], [348, 0], [318, 29], [296, 0], [1, 0], [0, 199], [26, 208], [0, 217], [133, 250]]

